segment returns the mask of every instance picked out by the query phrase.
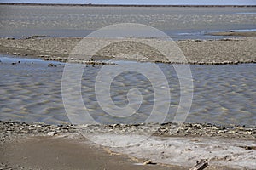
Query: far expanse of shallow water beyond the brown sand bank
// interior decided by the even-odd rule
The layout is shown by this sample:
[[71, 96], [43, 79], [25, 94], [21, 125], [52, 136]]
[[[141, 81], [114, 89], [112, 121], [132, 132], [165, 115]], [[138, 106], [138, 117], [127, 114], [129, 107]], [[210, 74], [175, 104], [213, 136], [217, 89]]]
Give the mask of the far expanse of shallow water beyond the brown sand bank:
[[255, 29], [256, 8], [0, 6], [0, 37], [85, 37], [117, 23], [140, 23], [173, 39], [220, 38], [212, 31]]

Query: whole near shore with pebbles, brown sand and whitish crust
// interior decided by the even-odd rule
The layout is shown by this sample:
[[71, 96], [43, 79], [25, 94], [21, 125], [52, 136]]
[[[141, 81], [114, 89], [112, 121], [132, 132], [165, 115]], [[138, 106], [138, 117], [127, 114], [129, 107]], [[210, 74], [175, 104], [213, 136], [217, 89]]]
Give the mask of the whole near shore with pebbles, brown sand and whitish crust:
[[[250, 162], [250, 160], [256, 156], [256, 127], [235, 125], [221, 127], [212, 124], [185, 123], [177, 135], [161, 134], [161, 132], [168, 133], [166, 129], [172, 126], [175, 124], [162, 124], [156, 134], [140, 144], [116, 148], [93, 143], [95, 141], [90, 141], [81, 134], [83, 132], [80, 131], [81, 128], [92, 130], [94, 135], [98, 134], [100, 137], [107, 134], [111, 139], [122, 136], [125, 132], [128, 139], [132, 141], [131, 136], [129, 137], [132, 132], [148, 130], [151, 125], [79, 125], [77, 128], [72, 125], [0, 121], [0, 150], [3, 150], [0, 167], [63, 169], [74, 166], [77, 169], [84, 169], [86, 166], [90, 169], [99, 169], [99, 167], [122, 166], [127, 170], [131, 168], [189, 169], [194, 167], [195, 161], [200, 161], [201, 158], [207, 159], [209, 170], [240, 169], [242, 166], [250, 169], [248, 166], [253, 166], [253, 161]], [[104, 135], [99, 133], [100, 131]], [[209, 132], [212, 132], [212, 135]], [[143, 137], [143, 134], [138, 135]], [[162, 144], [165, 150], [163, 157], [160, 156], [163, 152]], [[35, 154], [34, 150], [37, 150], [38, 154]], [[180, 151], [179, 156], [177, 154]], [[213, 156], [214, 153], [218, 153], [218, 156]], [[45, 154], [47, 157], [44, 156]], [[173, 154], [177, 159], [172, 158]], [[190, 160], [188, 156], [195, 157], [191, 157]], [[58, 157], [57, 160], [56, 157]], [[81, 159], [87, 161], [81, 161]], [[152, 162], [151, 165], [146, 163], [149, 160]], [[245, 165], [241, 163], [242, 161], [246, 162]]]

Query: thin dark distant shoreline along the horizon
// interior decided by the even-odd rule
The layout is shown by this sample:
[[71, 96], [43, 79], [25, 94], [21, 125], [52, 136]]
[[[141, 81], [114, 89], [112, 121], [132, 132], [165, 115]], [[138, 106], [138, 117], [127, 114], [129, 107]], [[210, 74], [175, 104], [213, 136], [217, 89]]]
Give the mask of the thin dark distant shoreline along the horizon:
[[256, 5], [139, 5], [139, 4], [68, 4], [68, 3], [0, 3], [20, 6], [81, 6], [81, 7], [194, 7], [194, 8], [256, 8]]

